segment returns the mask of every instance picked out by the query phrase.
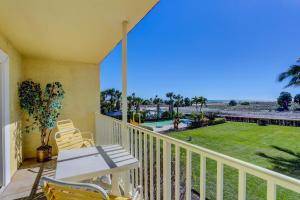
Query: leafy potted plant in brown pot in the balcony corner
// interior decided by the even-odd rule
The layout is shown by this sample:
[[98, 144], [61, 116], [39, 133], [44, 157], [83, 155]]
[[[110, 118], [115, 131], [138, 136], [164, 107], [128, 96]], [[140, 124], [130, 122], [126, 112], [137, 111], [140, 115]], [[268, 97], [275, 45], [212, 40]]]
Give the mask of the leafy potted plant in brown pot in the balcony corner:
[[41, 85], [32, 80], [19, 84], [20, 107], [26, 114], [24, 131], [29, 133], [38, 128], [41, 134], [41, 146], [37, 148], [37, 161], [51, 158], [52, 147], [49, 138], [62, 108], [64, 90], [60, 82], [48, 83], [42, 91]]

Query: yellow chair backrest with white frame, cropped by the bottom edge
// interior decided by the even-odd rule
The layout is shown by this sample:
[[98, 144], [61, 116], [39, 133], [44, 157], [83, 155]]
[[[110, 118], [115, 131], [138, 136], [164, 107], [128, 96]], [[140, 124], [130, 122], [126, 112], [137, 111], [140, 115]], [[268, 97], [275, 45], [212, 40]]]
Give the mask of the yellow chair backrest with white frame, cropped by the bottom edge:
[[71, 183], [42, 177], [40, 182], [47, 200], [107, 200], [105, 190], [88, 183]]

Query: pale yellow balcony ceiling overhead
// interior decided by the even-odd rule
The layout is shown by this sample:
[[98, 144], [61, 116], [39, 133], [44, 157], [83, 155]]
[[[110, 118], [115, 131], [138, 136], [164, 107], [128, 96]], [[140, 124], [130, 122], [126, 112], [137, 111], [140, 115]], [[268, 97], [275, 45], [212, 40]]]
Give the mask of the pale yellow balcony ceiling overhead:
[[25, 57], [99, 63], [158, 0], [0, 0], [0, 32]]

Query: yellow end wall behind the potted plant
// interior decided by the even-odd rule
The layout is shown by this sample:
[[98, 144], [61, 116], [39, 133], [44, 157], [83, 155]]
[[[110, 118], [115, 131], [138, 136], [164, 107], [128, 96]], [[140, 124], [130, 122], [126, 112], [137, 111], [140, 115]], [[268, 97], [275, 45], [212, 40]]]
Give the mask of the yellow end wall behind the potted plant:
[[[24, 59], [24, 79], [46, 83], [60, 81], [65, 90], [63, 108], [59, 119], [71, 119], [81, 131], [95, 133], [95, 112], [99, 110], [99, 65], [78, 62]], [[56, 153], [53, 137], [51, 145]], [[35, 149], [40, 145], [39, 132], [24, 134], [24, 157], [35, 157]]]

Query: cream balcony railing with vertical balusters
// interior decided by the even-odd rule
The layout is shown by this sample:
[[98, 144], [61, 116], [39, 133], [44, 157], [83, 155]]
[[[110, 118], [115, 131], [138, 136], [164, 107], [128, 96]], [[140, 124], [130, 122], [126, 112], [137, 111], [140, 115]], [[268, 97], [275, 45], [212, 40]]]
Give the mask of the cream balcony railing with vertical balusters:
[[[224, 197], [224, 166], [238, 171], [239, 200], [247, 196], [247, 175], [265, 181], [267, 200], [276, 200], [276, 194], [282, 190], [300, 195], [297, 179], [131, 124], [126, 124], [122, 132], [121, 121], [101, 114], [96, 114], [96, 140], [97, 144], [127, 145], [132, 155], [139, 159], [141, 167], [131, 172], [130, 181], [133, 186], [143, 186], [144, 199], [191, 199], [192, 173], [199, 170], [197, 189], [200, 200], [205, 200], [208, 159], [214, 160], [217, 166], [214, 194], [217, 200]], [[198, 169], [192, 166], [195, 156], [200, 159]]]

